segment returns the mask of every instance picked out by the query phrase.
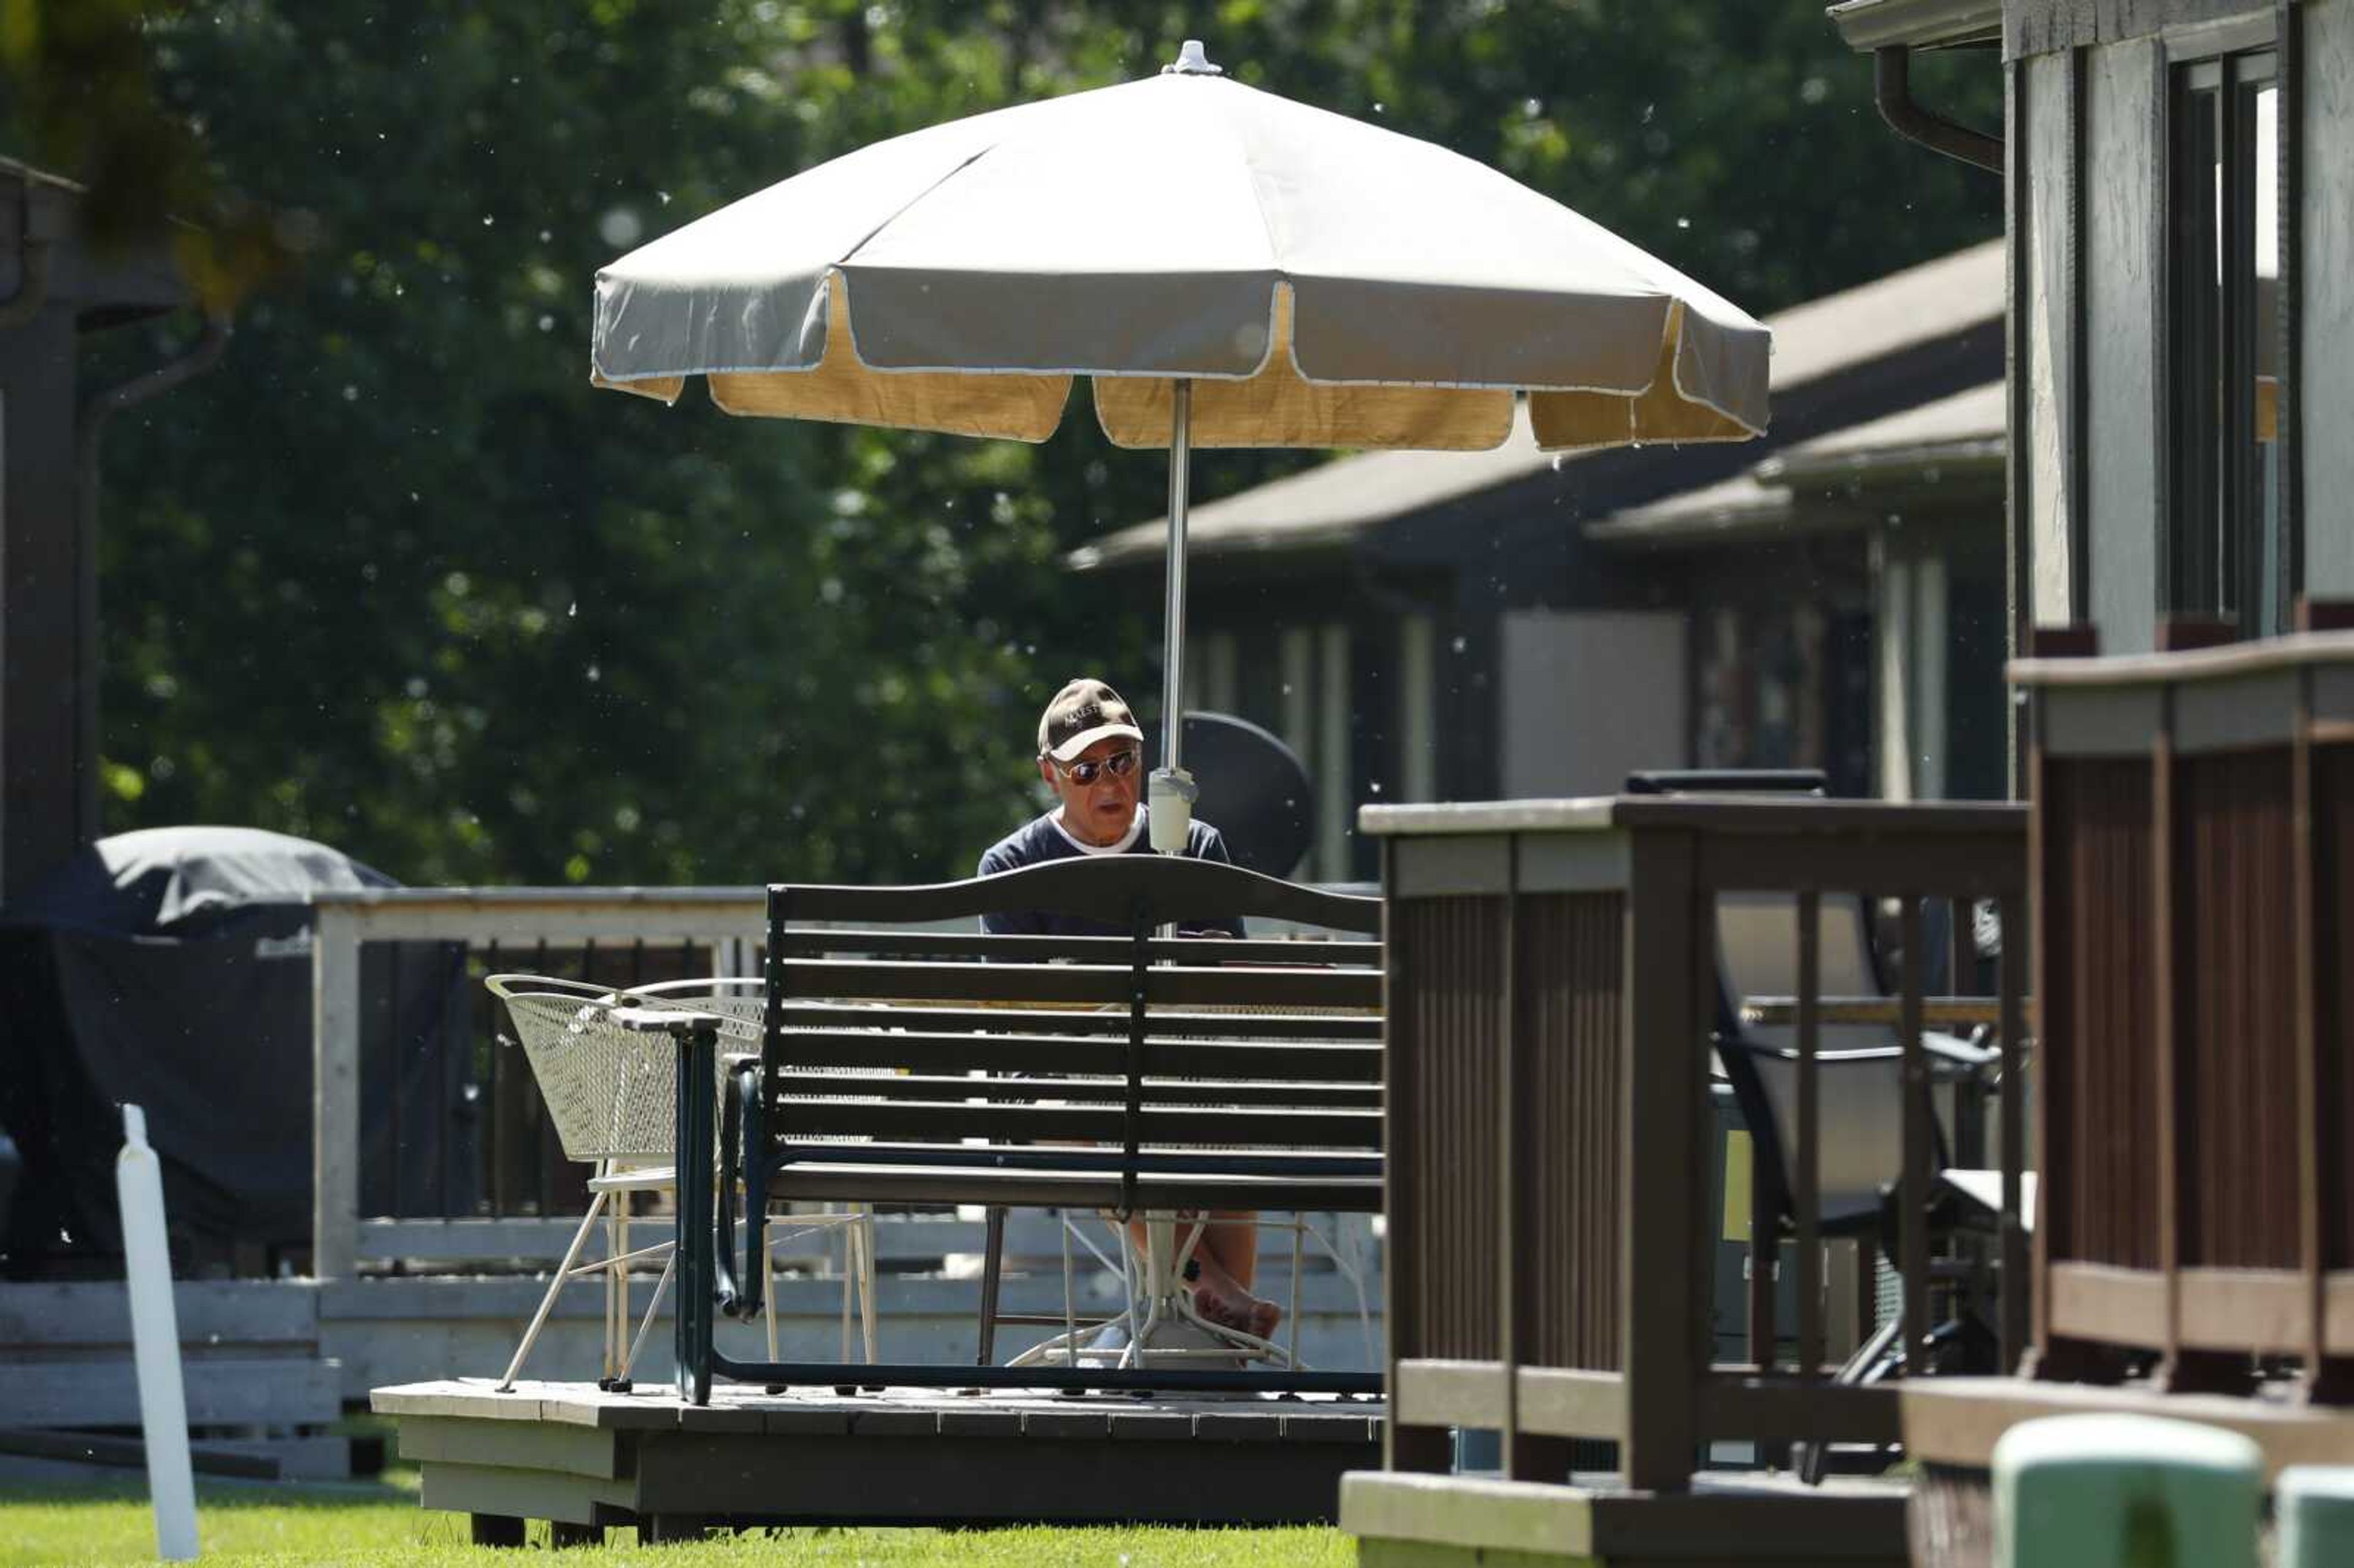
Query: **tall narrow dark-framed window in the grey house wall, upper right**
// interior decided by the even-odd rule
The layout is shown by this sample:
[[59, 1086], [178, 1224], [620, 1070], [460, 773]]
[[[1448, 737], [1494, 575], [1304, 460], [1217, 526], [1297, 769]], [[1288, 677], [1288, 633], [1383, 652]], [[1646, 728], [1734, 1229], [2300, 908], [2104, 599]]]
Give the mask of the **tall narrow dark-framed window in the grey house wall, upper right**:
[[2274, 57], [2175, 68], [2163, 607], [2241, 636], [2286, 626], [2276, 431], [2279, 214]]

